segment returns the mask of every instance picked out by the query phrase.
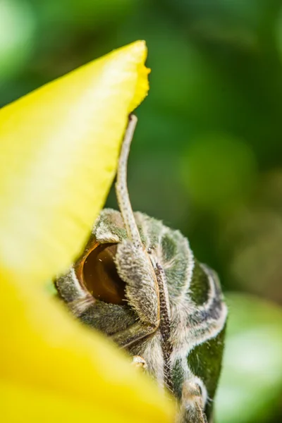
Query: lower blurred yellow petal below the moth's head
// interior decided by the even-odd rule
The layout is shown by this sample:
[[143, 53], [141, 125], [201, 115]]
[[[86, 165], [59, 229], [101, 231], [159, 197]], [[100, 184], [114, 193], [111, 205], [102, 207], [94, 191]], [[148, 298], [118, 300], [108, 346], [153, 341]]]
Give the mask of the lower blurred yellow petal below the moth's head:
[[41, 421], [37, 400], [44, 410], [50, 400], [50, 416], [70, 404], [69, 412], [81, 410], [82, 422], [172, 421], [173, 403], [109, 340], [72, 319], [43, 290], [3, 278], [0, 289], [0, 381], [10, 403], [13, 394], [19, 400], [18, 419], [5, 422], [25, 421], [29, 413], [32, 422]]

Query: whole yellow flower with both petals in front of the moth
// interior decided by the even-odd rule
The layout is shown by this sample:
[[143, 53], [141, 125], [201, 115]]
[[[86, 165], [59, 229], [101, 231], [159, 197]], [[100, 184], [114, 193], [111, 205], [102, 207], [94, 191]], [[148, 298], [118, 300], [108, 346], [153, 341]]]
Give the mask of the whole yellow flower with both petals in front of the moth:
[[144, 42], [0, 110], [0, 396], [4, 422], [170, 422], [173, 404], [44, 293], [71, 264], [148, 90]]

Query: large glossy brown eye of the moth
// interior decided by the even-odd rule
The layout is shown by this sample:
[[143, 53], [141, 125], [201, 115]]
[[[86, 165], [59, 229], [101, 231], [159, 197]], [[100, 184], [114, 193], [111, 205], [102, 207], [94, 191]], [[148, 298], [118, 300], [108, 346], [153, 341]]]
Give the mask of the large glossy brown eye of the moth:
[[125, 304], [125, 282], [116, 271], [116, 244], [100, 244], [85, 259], [82, 278], [85, 288], [97, 300]]

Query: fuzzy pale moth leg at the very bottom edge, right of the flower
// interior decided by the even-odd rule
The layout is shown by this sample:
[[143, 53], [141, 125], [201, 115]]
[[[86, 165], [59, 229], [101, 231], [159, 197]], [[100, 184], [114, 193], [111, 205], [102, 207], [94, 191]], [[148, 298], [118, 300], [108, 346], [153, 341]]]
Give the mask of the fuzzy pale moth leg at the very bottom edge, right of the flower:
[[185, 381], [183, 384], [178, 422], [207, 423], [202, 393], [195, 381]]

